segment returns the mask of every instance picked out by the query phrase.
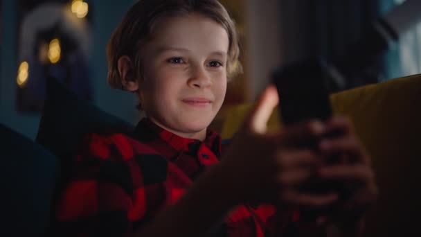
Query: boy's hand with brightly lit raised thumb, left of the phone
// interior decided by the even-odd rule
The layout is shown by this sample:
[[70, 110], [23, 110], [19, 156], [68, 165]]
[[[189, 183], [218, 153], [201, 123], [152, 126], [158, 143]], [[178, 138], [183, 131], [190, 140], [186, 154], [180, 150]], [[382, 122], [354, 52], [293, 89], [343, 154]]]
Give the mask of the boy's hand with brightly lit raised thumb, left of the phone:
[[[310, 194], [299, 187], [313, 177], [322, 157], [296, 144], [323, 134], [320, 122], [309, 122], [267, 133], [267, 121], [278, 105], [278, 93], [267, 87], [243, 123], [221, 161], [234, 202], [271, 202], [319, 208], [337, 200], [337, 193]], [[326, 175], [333, 171], [323, 170]]]

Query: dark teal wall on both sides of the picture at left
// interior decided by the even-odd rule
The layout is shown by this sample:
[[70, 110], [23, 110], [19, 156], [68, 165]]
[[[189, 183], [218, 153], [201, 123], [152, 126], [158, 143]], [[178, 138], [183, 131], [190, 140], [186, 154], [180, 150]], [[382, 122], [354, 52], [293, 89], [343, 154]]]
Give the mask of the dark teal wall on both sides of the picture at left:
[[[93, 80], [93, 103], [107, 112], [134, 123], [136, 101], [132, 94], [112, 90], [107, 85], [107, 60], [105, 46], [124, 12], [134, 3], [133, 0], [93, 1], [93, 48], [91, 78]], [[39, 124], [39, 114], [26, 114], [16, 111], [16, 72], [17, 72], [17, 1], [2, 1], [3, 22], [0, 78], [0, 123], [34, 139]]]

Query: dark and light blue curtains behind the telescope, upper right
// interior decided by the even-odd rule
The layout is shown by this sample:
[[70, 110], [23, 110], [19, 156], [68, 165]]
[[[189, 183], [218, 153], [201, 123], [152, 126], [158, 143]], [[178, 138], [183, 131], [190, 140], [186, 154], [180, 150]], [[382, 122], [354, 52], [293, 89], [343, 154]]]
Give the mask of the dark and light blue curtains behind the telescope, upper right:
[[[321, 58], [332, 62], [346, 57], [372, 22], [404, 0], [280, 0], [282, 62]], [[392, 49], [385, 51], [370, 69], [375, 80], [348, 83], [352, 87], [421, 73], [421, 24]]]

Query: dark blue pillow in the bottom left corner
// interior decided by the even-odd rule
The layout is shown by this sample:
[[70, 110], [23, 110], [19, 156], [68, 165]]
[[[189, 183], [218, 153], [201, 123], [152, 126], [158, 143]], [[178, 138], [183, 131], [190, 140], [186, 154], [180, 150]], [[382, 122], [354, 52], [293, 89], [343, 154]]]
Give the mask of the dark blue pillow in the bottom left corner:
[[0, 125], [0, 236], [45, 236], [59, 164], [51, 152]]

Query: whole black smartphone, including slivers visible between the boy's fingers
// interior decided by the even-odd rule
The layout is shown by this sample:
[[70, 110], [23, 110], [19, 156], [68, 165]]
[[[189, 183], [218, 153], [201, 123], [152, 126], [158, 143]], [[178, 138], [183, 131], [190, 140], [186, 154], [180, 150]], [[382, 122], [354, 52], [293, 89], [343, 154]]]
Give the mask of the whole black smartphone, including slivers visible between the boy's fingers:
[[[308, 60], [286, 65], [273, 74], [273, 82], [280, 98], [280, 119], [285, 126], [302, 123], [310, 119], [326, 121], [332, 117], [330, 104], [330, 83], [332, 76], [320, 60]], [[320, 139], [340, 134], [326, 134], [325, 137], [302, 141], [300, 148], [317, 150]], [[339, 157], [328, 157], [325, 164], [337, 164]], [[312, 179], [303, 187], [312, 193], [338, 191], [342, 186], [334, 180]]]

